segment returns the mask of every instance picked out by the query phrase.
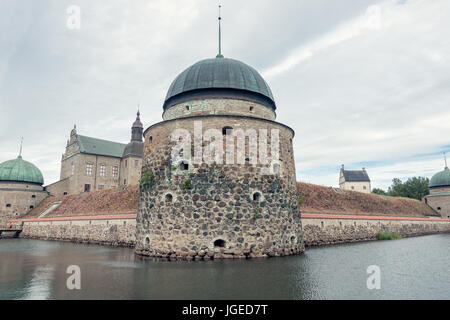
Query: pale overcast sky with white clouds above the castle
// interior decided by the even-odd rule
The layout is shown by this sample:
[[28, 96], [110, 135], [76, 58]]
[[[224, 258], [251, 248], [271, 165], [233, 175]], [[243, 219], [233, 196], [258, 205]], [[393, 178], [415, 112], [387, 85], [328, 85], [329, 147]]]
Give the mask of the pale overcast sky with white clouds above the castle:
[[[81, 9], [81, 29], [67, 8]], [[70, 130], [127, 143], [141, 104], [217, 54], [216, 0], [1, 0], [0, 162], [59, 179]], [[450, 150], [450, 1], [224, 0], [223, 53], [261, 72], [292, 127], [299, 181], [431, 177]]]

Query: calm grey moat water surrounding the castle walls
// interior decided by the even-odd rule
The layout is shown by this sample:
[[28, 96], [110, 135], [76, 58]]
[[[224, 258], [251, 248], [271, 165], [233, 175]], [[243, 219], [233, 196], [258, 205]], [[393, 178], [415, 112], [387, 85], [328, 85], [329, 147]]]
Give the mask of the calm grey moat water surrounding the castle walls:
[[[81, 270], [68, 290], [67, 268]], [[369, 290], [367, 268], [380, 267]], [[0, 240], [0, 299], [450, 299], [450, 234], [265, 260], [163, 262], [132, 249]]]

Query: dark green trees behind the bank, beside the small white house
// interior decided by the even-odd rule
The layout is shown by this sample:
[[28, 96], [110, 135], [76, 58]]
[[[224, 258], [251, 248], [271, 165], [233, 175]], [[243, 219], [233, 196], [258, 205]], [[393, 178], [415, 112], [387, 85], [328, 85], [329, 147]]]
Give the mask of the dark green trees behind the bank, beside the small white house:
[[405, 197], [422, 200], [423, 197], [430, 194], [430, 190], [428, 189], [429, 184], [430, 179], [423, 177], [409, 178], [406, 182], [395, 178], [392, 180], [392, 185], [389, 187], [388, 191], [375, 188], [372, 192], [391, 197]]

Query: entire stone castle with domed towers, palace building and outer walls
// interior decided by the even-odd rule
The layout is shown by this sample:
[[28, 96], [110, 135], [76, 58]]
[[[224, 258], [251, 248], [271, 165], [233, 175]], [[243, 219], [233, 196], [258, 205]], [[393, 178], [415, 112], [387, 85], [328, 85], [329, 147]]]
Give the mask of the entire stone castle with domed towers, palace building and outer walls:
[[[128, 144], [79, 135], [75, 126], [62, 155], [60, 181], [43, 187], [42, 173], [21, 153], [0, 164], [0, 218], [14, 221], [49, 195], [61, 200], [139, 185], [137, 216], [83, 216], [74, 225], [76, 219], [70, 216], [42, 221], [55, 205], [49, 198], [50, 207], [35, 212], [35, 219], [15, 222], [28, 228], [28, 235], [132, 243], [138, 255], [170, 260], [294, 255], [304, 252], [308, 232], [310, 243], [333, 243], [353, 239], [357, 227], [370, 229], [370, 235], [363, 230], [359, 240], [391, 227], [391, 221], [382, 224], [371, 218], [363, 226], [348, 217], [343, 223], [321, 215], [320, 219], [333, 221], [326, 225], [317, 216], [310, 217], [303, 234], [294, 131], [276, 121], [276, 110], [270, 87], [258, 71], [225, 58], [219, 45], [215, 58], [195, 63], [172, 82], [162, 122], [144, 132], [138, 112]], [[348, 171], [344, 166], [340, 186], [364, 193], [371, 190], [365, 169]], [[432, 178], [430, 191], [425, 202], [449, 217], [447, 167]], [[115, 197], [114, 192], [106, 193]], [[52, 219], [61, 223], [53, 225]], [[419, 234], [415, 226], [408, 228], [408, 234]], [[424, 232], [440, 230], [432, 225], [424, 228]], [[335, 239], [330, 240], [330, 233]]]

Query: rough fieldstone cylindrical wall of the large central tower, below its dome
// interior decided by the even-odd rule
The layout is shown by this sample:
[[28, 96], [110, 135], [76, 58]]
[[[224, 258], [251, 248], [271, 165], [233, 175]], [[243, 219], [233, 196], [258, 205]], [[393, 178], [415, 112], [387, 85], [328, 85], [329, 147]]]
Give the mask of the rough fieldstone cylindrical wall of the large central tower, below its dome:
[[[188, 170], [180, 170], [171, 162], [175, 143], [170, 136], [178, 128], [192, 134], [195, 121], [202, 122], [203, 132], [222, 131], [224, 126], [267, 129], [269, 133], [278, 129], [280, 174], [262, 175], [263, 165], [250, 163], [191, 164]], [[157, 124], [147, 130], [145, 138], [144, 168], [154, 173], [155, 182], [141, 192], [138, 254], [201, 260], [303, 252], [291, 129], [263, 119], [206, 116]], [[189, 188], [184, 187], [186, 181]], [[253, 200], [256, 192], [260, 198]], [[218, 240], [223, 247], [215, 245]]]

